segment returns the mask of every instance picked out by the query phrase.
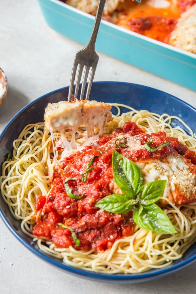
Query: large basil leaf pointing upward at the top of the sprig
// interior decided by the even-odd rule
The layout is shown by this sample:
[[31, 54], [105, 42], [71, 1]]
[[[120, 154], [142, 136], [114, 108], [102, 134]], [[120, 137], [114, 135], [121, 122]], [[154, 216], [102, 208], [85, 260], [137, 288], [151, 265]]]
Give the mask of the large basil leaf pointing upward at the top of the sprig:
[[129, 198], [135, 199], [143, 181], [140, 168], [115, 150], [112, 155], [112, 167], [114, 180], [121, 191]]

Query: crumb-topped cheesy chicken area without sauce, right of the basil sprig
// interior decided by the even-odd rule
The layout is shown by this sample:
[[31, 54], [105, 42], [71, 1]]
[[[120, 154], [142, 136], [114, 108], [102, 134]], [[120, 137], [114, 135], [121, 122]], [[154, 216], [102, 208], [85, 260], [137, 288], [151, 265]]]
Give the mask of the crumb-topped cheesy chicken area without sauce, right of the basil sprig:
[[[190, 170], [185, 158], [172, 154], [163, 160], [137, 163], [143, 175], [143, 183], [166, 180], [163, 196], [176, 204], [196, 200], [196, 174]], [[162, 203], [164, 204], [164, 203]]]

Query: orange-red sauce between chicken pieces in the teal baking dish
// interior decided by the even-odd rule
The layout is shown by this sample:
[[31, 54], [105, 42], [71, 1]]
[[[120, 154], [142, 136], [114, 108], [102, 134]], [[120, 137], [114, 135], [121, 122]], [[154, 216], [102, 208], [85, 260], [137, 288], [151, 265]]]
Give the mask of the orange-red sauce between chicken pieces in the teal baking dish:
[[141, 3], [125, 0], [118, 7], [115, 24], [152, 39], [167, 42], [180, 14], [180, 6], [175, 0], [142, 0]]

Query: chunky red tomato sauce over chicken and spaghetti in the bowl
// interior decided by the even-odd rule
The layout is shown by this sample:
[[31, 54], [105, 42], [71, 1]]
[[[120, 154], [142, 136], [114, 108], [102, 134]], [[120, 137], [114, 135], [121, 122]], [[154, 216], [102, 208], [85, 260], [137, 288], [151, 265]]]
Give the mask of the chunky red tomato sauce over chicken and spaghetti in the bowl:
[[[154, 152], [144, 149], [130, 152], [128, 148], [113, 148], [111, 142], [121, 133], [137, 136], [142, 145], [153, 140], [153, 148], [167, 140], [170, 143]], [[195, 154], [188, 151], [177, 139], [167, 138], [164, 132], [148, 135], [135, 123], [125, 123], [112, 134], [98, 138], [95, 145], [84, 147], [82, 152], [66, 157], [56, 166], [53, 188], [48, 196], [39, 196], [36, 202], [36, 209], [42, 210], [42, 217], [36, 221], [34, 235], [51, 239], [58, 248], [67, 248], [71, 245], [81, 250], [102, 251], [111, 248], [115, 240], [134, 233], [135, 223], [131, 211], [126, 214], [114, 214], [95, 206], [101, 198], [114, 193], [111, 163], [113, 149], [135, 162], [160, 159], [178, 152], [187, 158], [187, 161], [196, 164]], [[91, 169], [85, 174], [92, 159], [94, 161]], [[64, 182], [70, 177], [77, 178], [77, 181], [68, 181], [71, 193], [82, 196], [81, 199], [68, 197]], [[63, 228], [58, 223], [63, 223], [68, 228]], [[69, 228], [74, 230], [80, 240], [79, 246], [74, 243]]]

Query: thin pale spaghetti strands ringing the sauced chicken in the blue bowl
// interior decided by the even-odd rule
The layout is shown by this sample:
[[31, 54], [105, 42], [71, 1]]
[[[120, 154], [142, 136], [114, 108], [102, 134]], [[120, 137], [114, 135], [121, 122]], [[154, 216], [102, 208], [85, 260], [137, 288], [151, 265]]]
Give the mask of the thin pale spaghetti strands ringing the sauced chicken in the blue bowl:
[[[113, 121], [106, 124], [105, 133], [111, 133], [125, 122], [132, 121], [148, 134], [164, 131], [167, 136], [177, 138], [189, 150], [196, 150], [196, 139], [191, 129], [177, 117], [167, 114], [162, 116], [148, 111], [137, 111], [122, 104], [111, 104], [117, 109]], [[120, 107], [128, 112], [120, 114]], [[178, 120], [183, 128], [172, 128], [172, 120]], [[187, 132], [190, 135], [187, 135]], [[71, 134], [67, 133], [68, 140]], [[53, 178], [53, 139], [58, 141], [58, 132], [51, 134], [44, 128], [44, 123], [30, 124], [14, 140], [11, 158], [3, 163], [0, 177], [1, 195], [9, 206], [12, 215], [21, 220], [21, 228], [37, 241], [39, 248], [56, 258], [63, 259], [67, 265], [98, 273], [140, 273], [151, 268], [162, 268], [183, 253], [195, 242], [196, 237], [196, 202], [175, 205], [168, 198], [161, 197], [167, 205], [163, 211], [174, 225], [177, 233], [161, 234], [150, 230], [134, 228], [134, 234], [116, 240], [112, 248], [104, 252], [95, 250], [76, 250], [73, 247], [57, 248], [47, 238], [32, 234], [36, 219], [41, 211], [36, 211], [39, 195], [48, 195]], [[81, 145], [86, 139], [86, 130], [78, 128], [76, 143]], [[61, 151], [56, 151], [56, 158], [61, 158]], [[37, 214], [36, 214], [37, 213]]]

